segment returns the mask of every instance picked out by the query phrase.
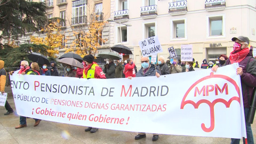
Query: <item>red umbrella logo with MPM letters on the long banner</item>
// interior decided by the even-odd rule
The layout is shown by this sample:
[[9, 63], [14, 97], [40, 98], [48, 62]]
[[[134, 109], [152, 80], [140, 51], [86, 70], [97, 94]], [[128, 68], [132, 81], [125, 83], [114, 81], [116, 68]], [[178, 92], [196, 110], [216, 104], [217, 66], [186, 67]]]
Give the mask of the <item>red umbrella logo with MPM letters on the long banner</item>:
[[[234, 85], [237, 95], [234, 95], [233, 97], [231, 96], [231, 98], [229, 100], [225, 100], [222, 98], [213, 99], [212, 101], [207, 100], [207, 98], [209, 98], [210, 92], [212, 92], [212, 93], [215, 92], [215, 95], [218, 95], [220, 93], [228, 95], [228, 84], [227, 83], [219, 84], [219, 85], [223, 85], [222, 89], [220, 88], [220, 86], [218, 84], [204, 85], [204, 86], [202, 86], [202, 89], [198, 89], [198, 87], [197, 87], [198, 84], [200, 84], [201, 82], [203, 82], [207, 79], [211, 79], [214, 81], [214, 78], [225, 79], [226, 81], [228, 81], [229, 83]], [[186, 100], [188, 95], [191, 95], [191, 93], [193, 93], [193, 95], [194, 95], [193, 98], [198, 97], [198, 94], [201, 94], [201, 95], [203, 95], [204, 99], [199, 99], [197, 102], [194, 102], [193, 100]], [[187, 105], [187, 104], [193, 105], [195, 109], [197, 109], [199, 107], [199, 105], [201, 105], [201, 103], [206, 103], [207, 105], [209, 105], [210, 116], [211, 116], [211, 125], [210, 125], [210, 127], [207, 128], [205, 126], [205, 124], [202, 123], [201, 127], [202, 127], [203, 131], [211, 132], [211, 131], [213, 131], [214, 125], [215, 125], [215, 123], [214, 123], [214, 105], [218, 102], [221, 102], [226, 106], [226, 108], [229, 108], [230, 103], [232, 101], [237, 101], [238, 103], [240, 103], [240, 90], [239, 90], [239, 86], [236, 84], [234, 79], [232, 79], [228, 76], [225, 76], [225, 75], [213, 75], [213, 73], [211, 73], [210, 76], [205, 76], [205, 77], [199, 79], [198, 81], [196, 81], [193, 85], [191, 85], [189, 87], [189, 89], [187, 90], [187, 92], [185, 93], [185, 95], [182, 99], [180, 109], [183, 109], [185, 107], [185, 105]]]

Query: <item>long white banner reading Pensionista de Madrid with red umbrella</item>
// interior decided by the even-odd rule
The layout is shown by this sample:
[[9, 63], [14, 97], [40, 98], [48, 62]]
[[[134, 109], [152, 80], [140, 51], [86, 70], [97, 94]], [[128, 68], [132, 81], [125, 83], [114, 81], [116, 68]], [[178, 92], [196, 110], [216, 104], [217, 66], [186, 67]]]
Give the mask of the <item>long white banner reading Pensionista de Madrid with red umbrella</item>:
[[237, 67], [132, 79], [13, 74], [11, 86], [17, 113], [26, 117], [110, 130], [242, 138]]

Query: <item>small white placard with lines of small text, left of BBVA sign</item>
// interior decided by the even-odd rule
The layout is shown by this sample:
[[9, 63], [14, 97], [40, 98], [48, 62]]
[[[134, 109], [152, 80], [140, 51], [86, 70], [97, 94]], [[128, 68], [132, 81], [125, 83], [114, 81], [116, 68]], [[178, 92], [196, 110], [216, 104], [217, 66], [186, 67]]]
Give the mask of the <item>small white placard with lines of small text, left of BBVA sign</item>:
[[181, 45], [181, 61], [193, 61], [192, 45]]

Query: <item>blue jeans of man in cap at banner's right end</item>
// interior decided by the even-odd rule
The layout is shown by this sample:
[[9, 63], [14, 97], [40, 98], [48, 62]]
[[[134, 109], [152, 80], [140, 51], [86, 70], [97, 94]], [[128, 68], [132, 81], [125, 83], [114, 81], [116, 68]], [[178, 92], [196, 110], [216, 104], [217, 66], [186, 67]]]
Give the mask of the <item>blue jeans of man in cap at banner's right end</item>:
[[[253, 135], [252, 135], [252, 128], [251, 124], [247, 123], [247, 116], [249, 113], [249, 108], [244, 108], [244, 116], [245, 116], [245, 126], [246, 126], [246, 135], [247, 135], [247, 143], [253, 144]], [[231, 144], [239, 144], [240, 139], [231, 139]], [[245, 143], [245, 139], [243, 138], [243, 142]]]

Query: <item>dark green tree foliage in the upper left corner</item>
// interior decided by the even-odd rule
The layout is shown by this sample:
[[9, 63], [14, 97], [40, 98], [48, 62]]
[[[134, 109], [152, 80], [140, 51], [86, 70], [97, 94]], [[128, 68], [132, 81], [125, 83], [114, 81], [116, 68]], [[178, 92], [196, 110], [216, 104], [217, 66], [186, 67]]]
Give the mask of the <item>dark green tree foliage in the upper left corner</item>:
[[[26, 31], [41, 30], [47, 23], [45, 3], [25, 0], [0, 1], [0, 30], [2, 35], [18, 38]], [[2, 36], [0, 36], [1, 38]]]

